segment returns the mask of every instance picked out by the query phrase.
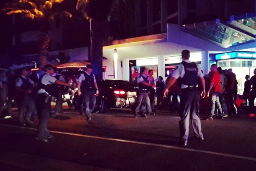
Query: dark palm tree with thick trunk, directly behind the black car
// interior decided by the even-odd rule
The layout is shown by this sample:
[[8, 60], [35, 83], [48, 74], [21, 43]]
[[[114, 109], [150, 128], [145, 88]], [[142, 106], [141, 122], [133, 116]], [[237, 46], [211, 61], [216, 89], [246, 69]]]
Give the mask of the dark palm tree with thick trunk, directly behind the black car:
[[90, 62], [94, 66], [96, 79], [102, 79], [102, 47], [103, 47], [103, 22], [110, 13], [113, 0], [77, 0], [77, 10], [90, 20], [91, 54]]

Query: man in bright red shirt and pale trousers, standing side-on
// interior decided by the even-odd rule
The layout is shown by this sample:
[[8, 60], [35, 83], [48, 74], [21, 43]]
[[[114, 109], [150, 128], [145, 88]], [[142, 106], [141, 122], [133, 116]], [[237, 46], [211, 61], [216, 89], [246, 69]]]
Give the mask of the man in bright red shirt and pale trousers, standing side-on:
[[214, 115], [215, 111], [215, 104], [218, 108], [218, 118], [223, 119], [222, 116], [222, 108], [220, 105], [220, 74], [217, 72], [217, 65], [212, 64], [210, 68], [212, 72], [212, 76], [210, 78], [210, 88], [209, 91], [207, 92], [207, 97], [210, 95], [210, 101], [211, 101], [211, 113], [210, 116], [205, 118], [206, 120], [213, 120], [212, 116]]

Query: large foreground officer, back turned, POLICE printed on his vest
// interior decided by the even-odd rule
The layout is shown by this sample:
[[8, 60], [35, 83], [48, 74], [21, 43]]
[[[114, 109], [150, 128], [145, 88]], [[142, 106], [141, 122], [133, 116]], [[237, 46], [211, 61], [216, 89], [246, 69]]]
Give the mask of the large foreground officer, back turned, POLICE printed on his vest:
[[196, 140], [204, 139], [199, 117], [200, 90], [198, 89], [197, 77], [200, 77], [200, 81], [202, 83], [202, 98], [205, 97], [205, 80], [203, 78], [201, 68], [196, 63], [189, 60], [189, 53], [189, 50], [182, 50], [182, 63], [177, 65], [175, 68], [164, 91], [164, 96], [166, 97], [168, 95], [169, 88], [174, 84], [174, 82], [178, 78], [182, 79], [179, 109], [179, 116], [181, 118], [179, 121], [181, 146], [187, 146], [187, 139], [189, 136], [189, 117], [191, 118], [192, 128], [194, 131], [193, 138]]

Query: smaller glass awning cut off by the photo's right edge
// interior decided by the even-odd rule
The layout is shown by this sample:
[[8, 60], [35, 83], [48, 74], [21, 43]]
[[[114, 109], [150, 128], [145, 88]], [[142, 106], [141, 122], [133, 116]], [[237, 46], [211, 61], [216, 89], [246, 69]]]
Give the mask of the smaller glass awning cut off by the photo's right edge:
[[242, 32], [255, 37], [256, 35], [256, 12], [242, 15], [231, 15], [228, 24]]

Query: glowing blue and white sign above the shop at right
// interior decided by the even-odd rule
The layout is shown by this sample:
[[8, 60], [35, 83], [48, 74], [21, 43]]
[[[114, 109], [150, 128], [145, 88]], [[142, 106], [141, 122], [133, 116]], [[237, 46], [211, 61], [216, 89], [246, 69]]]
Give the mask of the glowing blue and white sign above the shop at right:
[[254, 52], [230, 52], [230, 53], [221, 53], [221, 54], [215, 55], [215, 60], [232, 59], [232, 58], [256, 58], [256, 53], [254, 53]]

